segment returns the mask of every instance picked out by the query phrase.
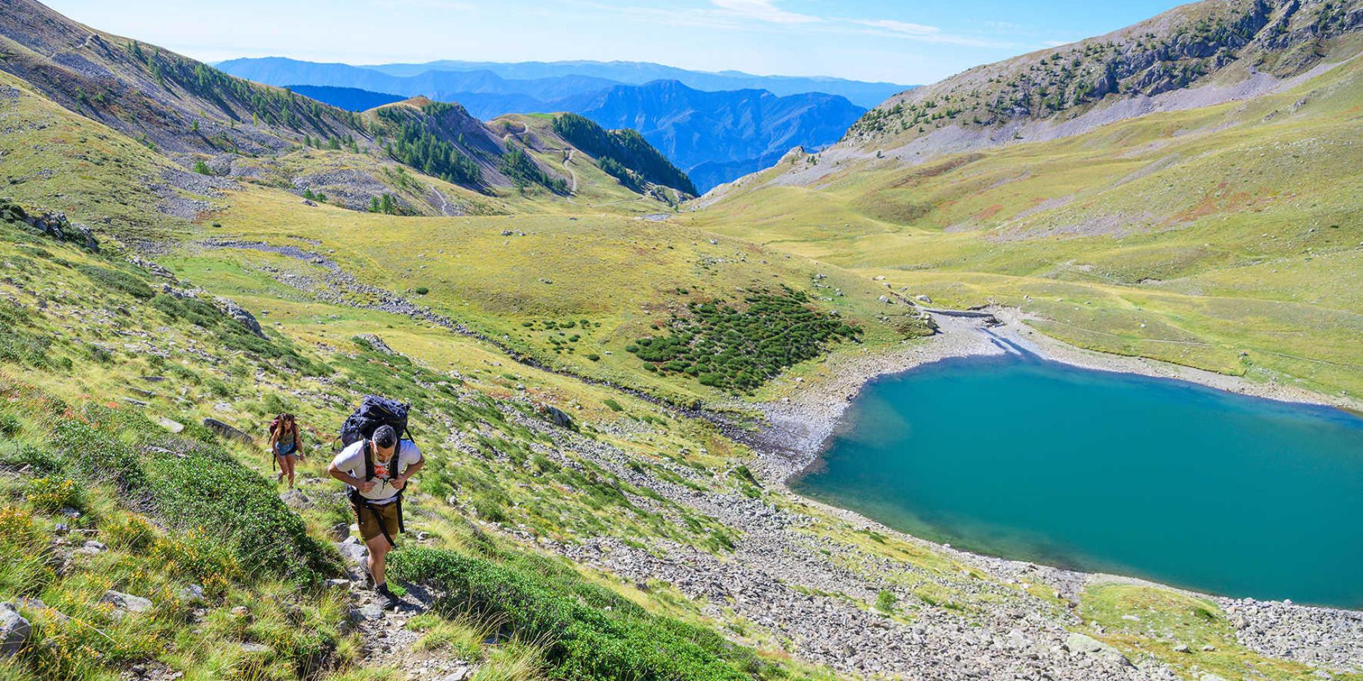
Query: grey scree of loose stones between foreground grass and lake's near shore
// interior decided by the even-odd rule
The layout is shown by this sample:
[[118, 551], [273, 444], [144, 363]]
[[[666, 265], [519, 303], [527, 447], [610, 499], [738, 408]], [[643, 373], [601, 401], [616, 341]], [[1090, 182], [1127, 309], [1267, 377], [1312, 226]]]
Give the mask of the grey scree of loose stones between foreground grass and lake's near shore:
[[[1133, 659], [1075, 633], [1089, 628], [1074, 610], [1079, 591], [1096, 583], [1139, 580], [977, 556], [902, 535], [849, 511], [784, 490], [784, 475], [793, 469], [786, 455], [761, 456], [770, 475], [765, 482], [782, 496], [780, 504], [771, 505], [668, 485], [631, 471], [626, 466], [628, 458], [608, 445], [548, 429], [542, 422], [525, 424], [552, 434], [559, 447], [590, 451], [596, 460], [631, 484], [654, 489], [740, 530], [737, 546], [726, 557], [675, 543], [639, 549], [611, 538], [587, 538], [581, 543], [540, 539], [541, 548], [604, 568], [643, 584], [642, 588], [650, 580], [660, 580], [707, 603], [706, 612], [718, 618], [732, 610], [803, 658], [849, 673], [904, 678], [1178, 678], [1154, 659]], [[552, 449], [544, 452], [553, 455]], [[688, 474], [683, 467], [676, 473]], [[811, 531], [814, 526], [838, 520], [931, 546], [991, 579], [943, 576]], [[514, 530], [511, 534], [517, 535]], [[924, 582], [964, 590], [972, 603], [968, 617], [927, 606], [904, 588], [906, 583]], [[1051, 598], [1035, 595], [1037, 588]], [[897, 592], [905, 610], [912, 607], [912, 616], [880, 613], [864, 605], [885, 590]], [[1363, 613], [1291, 602], [1216, 601], [1227, 607], [1238, 637], [1261, 654], [1340, 673], [1363, 670], [1363, 650], [1356, 646], [1363, 640]]]

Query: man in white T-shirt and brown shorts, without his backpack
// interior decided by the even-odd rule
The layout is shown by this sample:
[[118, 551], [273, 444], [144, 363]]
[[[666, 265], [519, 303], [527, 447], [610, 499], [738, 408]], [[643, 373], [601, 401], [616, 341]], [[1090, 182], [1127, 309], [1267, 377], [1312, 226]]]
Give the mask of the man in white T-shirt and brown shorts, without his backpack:
[[[403, 414], [405, 415], [405, 414]], [[384, 598], [384, 607], [397, 607], [398, 597], [388, 591], [384, 557], [393, 538], [402, 531], [402, 489], [425, 460], [412, 440], [398, 440], [391, 425], [373, 429], [373, 436], [360, 439], [327, 466], [327, 474], [350, 486], [350, 503], [360, 522], [360, 537], [369, 548], [367, 568], [375, 591]]]

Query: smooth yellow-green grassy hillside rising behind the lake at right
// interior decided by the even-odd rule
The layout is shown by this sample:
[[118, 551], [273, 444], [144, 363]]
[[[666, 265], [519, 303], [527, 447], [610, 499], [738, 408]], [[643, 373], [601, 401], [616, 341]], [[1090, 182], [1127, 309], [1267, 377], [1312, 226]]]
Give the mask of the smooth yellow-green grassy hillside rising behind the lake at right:
[[1358, 395], [1360, 123], [1355, 60], [1055, 142], [852, 161], [812, 187], [769, 172], [682, 219], [939, 305], [1020, 305], [1084, 347]]

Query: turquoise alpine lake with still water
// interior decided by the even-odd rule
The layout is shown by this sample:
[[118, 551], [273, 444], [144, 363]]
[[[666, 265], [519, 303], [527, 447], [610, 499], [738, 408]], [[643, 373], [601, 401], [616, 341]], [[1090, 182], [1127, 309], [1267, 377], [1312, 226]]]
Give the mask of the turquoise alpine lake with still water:
[[1363, 607], [1363, 418], [1329, 407], [946, 360], [868, 384], [792, 488], [977, 553]]

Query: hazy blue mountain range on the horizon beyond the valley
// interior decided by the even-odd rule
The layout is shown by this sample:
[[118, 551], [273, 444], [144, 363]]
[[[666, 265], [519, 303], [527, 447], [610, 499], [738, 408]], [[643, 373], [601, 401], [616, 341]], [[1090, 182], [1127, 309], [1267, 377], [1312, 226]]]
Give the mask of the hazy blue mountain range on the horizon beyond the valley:
[[352, 110], [429, 97], [458, 102], [483, 120], [506, 113], [581, 113], [607, 128], [638, 129], [691, 174], [702, 192], [765, 168], [791, 147], [816, 150], [842, 139], [866, 112], [856, 102], [874, 105], [908, 87], [624, 61], [354, 67], [263, 57], [217, 65]]

